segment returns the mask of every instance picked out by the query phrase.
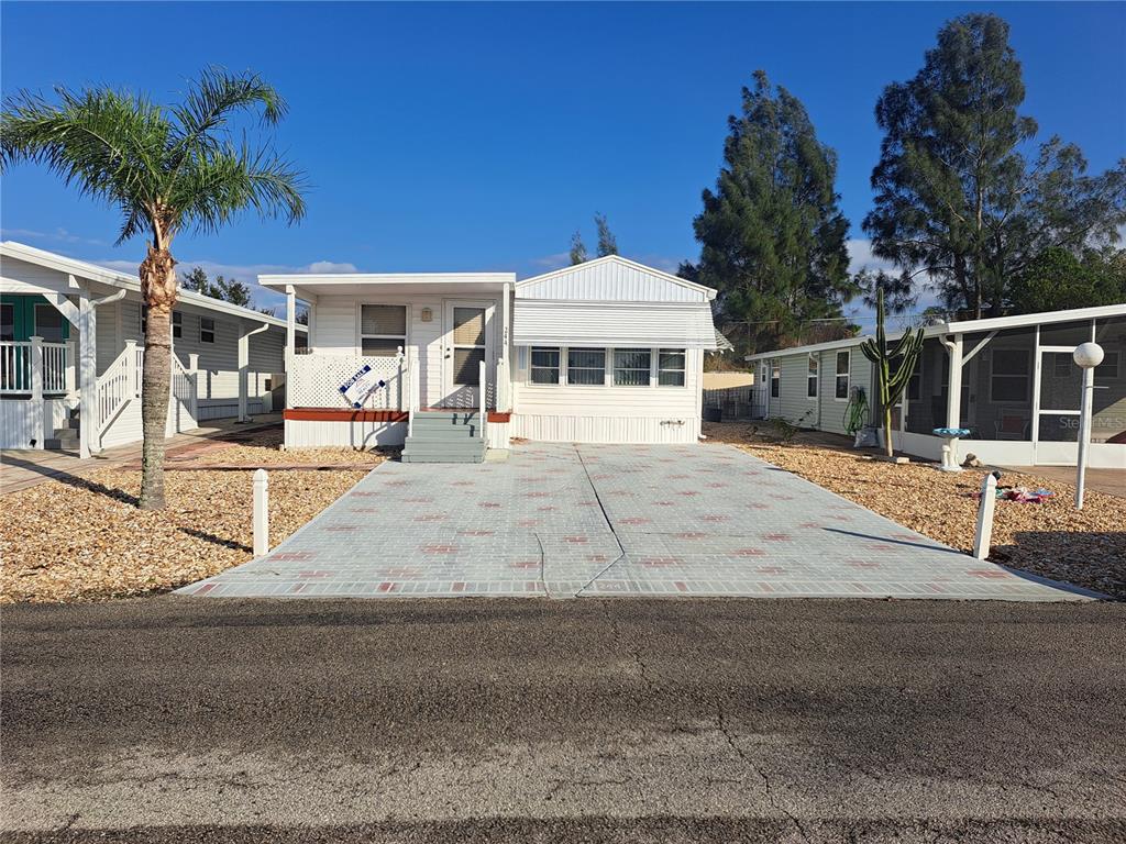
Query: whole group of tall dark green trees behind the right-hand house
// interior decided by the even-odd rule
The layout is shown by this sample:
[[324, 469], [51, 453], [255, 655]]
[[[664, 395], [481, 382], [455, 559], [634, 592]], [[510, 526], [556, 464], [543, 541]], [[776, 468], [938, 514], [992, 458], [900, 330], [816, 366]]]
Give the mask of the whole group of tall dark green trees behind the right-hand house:
[[876, 102], [884, 137], [863, 228], [894, 269], [851, 273], [837, 154], [757, 72], [694, 221], [699, 260], [680, 275], [720, 291], [717, 322], [740, 352], [855, 334], [843, 305], [881, 290], [894, 312], [931, 290], [931, 313], [957, 318], [1126, 300], [1126, 160], [1090, 174], [1076, 145], [1034, 146], [1024, 99], [1004, 20], [941, 28], [919, 72]]

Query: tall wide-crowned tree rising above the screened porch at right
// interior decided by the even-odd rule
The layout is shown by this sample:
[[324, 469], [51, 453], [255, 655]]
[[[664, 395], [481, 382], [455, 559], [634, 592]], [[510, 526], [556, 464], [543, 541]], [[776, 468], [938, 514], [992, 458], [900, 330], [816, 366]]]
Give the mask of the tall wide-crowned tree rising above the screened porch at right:
[[997, 315], [1045, 249], [1116, 240], [1126, 162], [1089, 177], [1079, 149], [1053, 137], [1029, 167], [1021, 147], [1037, 126], [1019, 114], [1024, 99], [1009, 26], [993, 15], [948, 23], [922, 70], [884, 89], [876, 207], [864, 227], [900, 270], [869, 281], [901, 306], [926, 280], [951, 309]]

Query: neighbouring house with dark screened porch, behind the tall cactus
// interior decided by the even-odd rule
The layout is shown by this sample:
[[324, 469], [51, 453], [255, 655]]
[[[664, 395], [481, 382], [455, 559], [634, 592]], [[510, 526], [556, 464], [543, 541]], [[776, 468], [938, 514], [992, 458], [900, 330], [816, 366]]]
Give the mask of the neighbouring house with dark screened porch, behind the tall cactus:
[[[1010, 466], [1074, 465], [1081, 374], [1075, 347], [1098, 342], [1092, 466], [1126, 469], [1126, 305], [940, 323], [924, 330], [919, 362], [894, 408], [895, 447], [941, 456], [936, 428], [968, 429], [962, 456]], [[844, 433], [865, 392], [868, 420], [879, 419], [875, 369], [860, 352], [865, 338], [762, 352], [756, 404], [770, 417]], [[951, 378], [951, 375], [953, 378]], [[951, 380], [959, 389], [950, 390]]]

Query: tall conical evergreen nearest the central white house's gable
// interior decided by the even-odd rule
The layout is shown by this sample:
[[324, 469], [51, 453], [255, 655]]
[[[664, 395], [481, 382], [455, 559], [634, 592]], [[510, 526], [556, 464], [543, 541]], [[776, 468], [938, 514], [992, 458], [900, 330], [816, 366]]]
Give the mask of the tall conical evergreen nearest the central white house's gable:
[[[838, 205], [837, 154], [817, 141], [801, 101], [762, 71], [727, 120], [724, 164], [696, 217], [701, 284], [720, 290], [721, 324], [753, 347], [796, 341], [803, 326], [841, 316], [856, 291], [848, 222]], [[824, 322], [816, 324], [824, 325]], [[843, 321], [841, 321], [843, 325]]]

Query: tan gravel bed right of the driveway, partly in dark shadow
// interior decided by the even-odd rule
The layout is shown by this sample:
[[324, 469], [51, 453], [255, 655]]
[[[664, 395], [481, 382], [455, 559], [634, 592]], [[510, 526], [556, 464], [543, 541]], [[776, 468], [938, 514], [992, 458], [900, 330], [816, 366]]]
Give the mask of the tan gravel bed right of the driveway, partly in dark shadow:
[[[931, 539], [972, 549], [977, 519], [973, 495], [988, 469], [945, 473], [930, 464], [893, 466], [832, 445], [834, 438], [824, 434], [799, 433], [781, 443], [752, 430], [747, 422], [704, 425], [711, 442], [738, 446]], [[1083, 510], [1076, 512], [1073, 485], [1012, 472], [1002, 473], [1001, 484], [1043, 486], [1055, 496], [1043, 504], [997, 502], [992, 562], [1126, 599], [1121, 499], [1089, 490]]]

